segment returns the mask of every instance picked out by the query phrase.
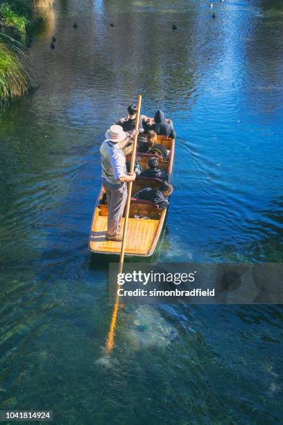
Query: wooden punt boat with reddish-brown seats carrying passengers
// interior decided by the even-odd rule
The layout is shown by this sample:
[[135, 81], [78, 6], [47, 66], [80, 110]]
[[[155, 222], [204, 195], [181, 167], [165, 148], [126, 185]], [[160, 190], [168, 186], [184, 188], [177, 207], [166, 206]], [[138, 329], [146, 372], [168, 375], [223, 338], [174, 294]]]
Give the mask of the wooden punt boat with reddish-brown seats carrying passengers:
[[[171, 182], [173, 172], [175, 140], [157, 136], [158, 143], [164, 144], [164, 147], [170, 151], [169, 161], [160, 160], [160, 168], [166, 170], [168, 181]], [[148, 157], [153, 156], [150, 153], [137, 152], [136, 160], [141, 169], [146, 168]], [[126, 156], [130, 161], [130, 155]], [[158, 240], [162, 235], [164, 228], [167, 208], [160, 210], [158, 206], [150, 201], [135, 199], [134, 195], [141, 188], [159, 188], [160, 179], [137, 177], [132, 185], [132, 198], [130, 202], [130, 215], [128, 221], [128, 232], [126, 238], [126, 256], [149, 257], [157, 246]], [[101, 186], [98, 194], [94, 214], [92, 216], [92, 225], [89, 233], [89, 250], [96, 254], [117, 254], [121, 253], [121, 242], [105, 240], [108, 220], [108, 206], [105, 203], [105, 190]], [[149, 219], [136, 218], [137, 216], [146, 216]], [[123, 218], [121, 228], [123, 229]]]

